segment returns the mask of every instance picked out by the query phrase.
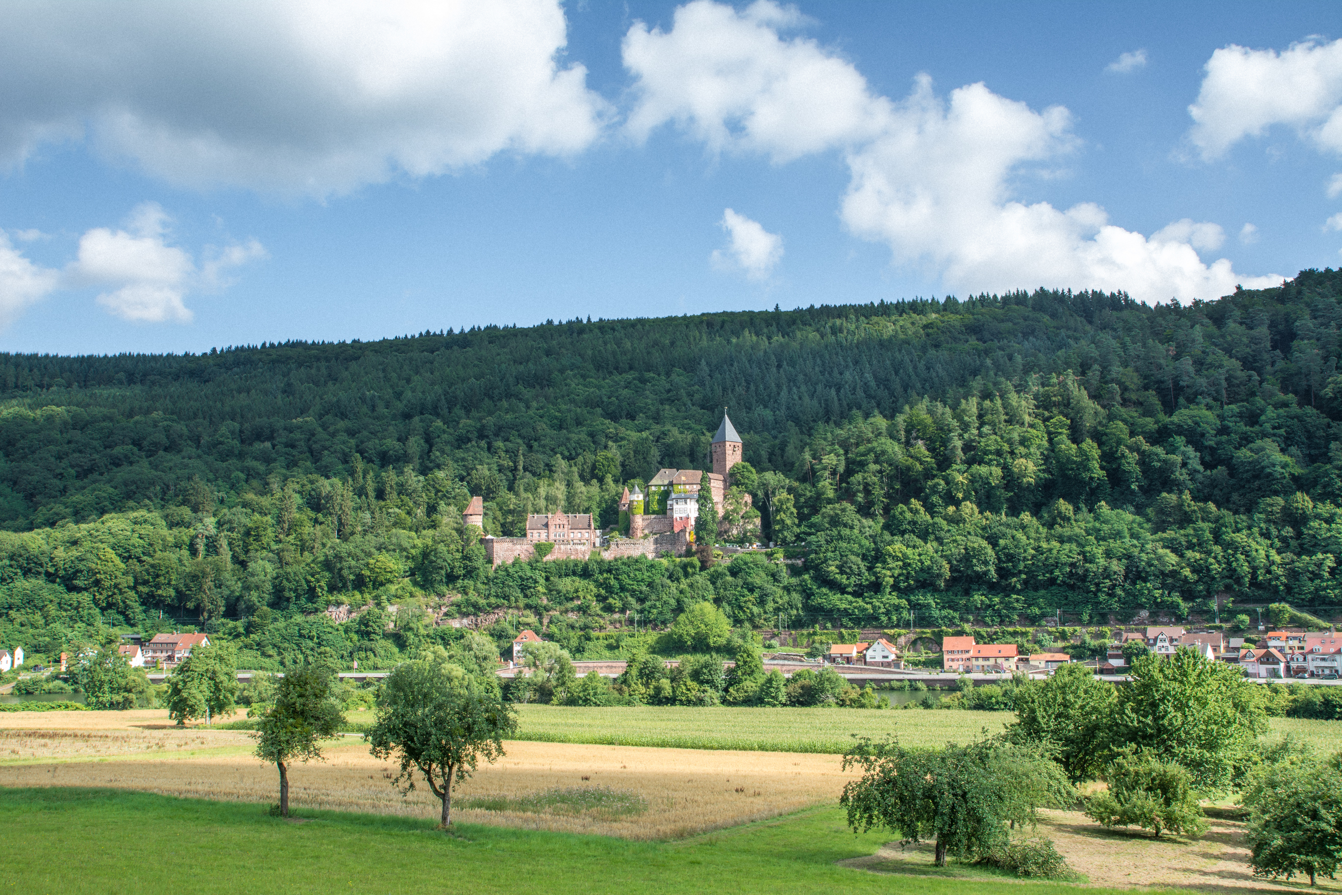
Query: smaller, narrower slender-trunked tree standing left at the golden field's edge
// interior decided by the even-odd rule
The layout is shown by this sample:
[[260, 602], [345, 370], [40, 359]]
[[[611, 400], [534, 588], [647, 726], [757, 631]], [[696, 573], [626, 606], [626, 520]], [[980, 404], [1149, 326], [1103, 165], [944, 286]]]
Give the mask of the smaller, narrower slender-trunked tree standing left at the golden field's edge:
[[275, 690], [275, 704], [262, 715], [256, 730], [256, 757], [275, 762], [279, 770], [279, 814], [289, 817], [289, 765], [322, 761], [321, 741], [340, 733], [345, 723], [331, 691], [329, 668], [305, 666], [289, 671]]

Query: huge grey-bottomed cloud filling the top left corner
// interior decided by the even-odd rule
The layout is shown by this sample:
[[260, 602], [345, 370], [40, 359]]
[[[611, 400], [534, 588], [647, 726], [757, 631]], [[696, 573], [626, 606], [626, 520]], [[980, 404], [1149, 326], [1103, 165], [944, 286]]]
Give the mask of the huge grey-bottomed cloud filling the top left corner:
[[557, 0], [16, 4], [0, 162], [87, 136], [172, 184], [325, 196], [566, 156], [605, 103], [565, 44]]

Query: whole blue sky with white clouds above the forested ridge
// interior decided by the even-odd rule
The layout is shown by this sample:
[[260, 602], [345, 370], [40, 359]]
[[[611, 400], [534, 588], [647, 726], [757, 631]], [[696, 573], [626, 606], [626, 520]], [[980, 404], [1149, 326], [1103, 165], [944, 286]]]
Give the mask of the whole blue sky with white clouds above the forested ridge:
[[1335, 3], [5, 5], [0, 350], [1342, 262]]

